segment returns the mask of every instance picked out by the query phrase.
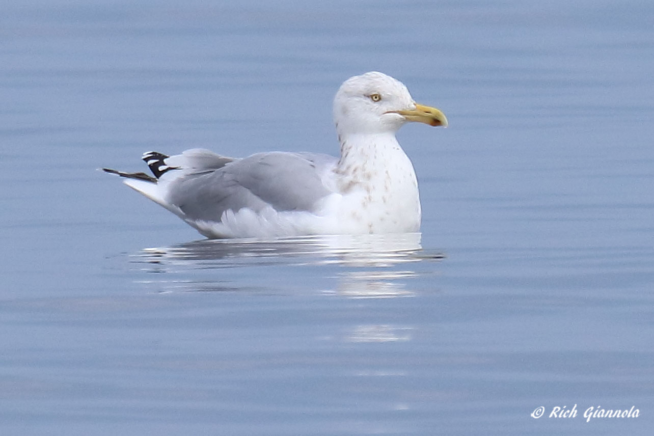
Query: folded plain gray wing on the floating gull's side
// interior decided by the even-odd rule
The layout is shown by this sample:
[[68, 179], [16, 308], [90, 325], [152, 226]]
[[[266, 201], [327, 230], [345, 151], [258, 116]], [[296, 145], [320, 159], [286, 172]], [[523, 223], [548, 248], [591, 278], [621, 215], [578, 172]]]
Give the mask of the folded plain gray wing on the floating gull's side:
[[313, 210], [331, 193], [321, 174], [337, 159], [324, 154], [269, 152], [253, 154], [211, 172], [172, 182], [168, 201], [194, 220], [220, 220], [222, 212], [243, 207], [258, 212]]

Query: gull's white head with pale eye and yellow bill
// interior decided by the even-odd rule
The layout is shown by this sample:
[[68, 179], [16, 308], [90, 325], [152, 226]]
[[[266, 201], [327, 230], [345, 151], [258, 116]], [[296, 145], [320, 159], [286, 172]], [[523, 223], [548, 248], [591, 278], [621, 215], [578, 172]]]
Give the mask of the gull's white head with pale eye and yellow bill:
[[334, 122], [339, 135], [395, 132], [406, 122], [447, 126], [440, 110], [419, 105], [400, 80], [371, 71], [351, 77], [334, 97]]

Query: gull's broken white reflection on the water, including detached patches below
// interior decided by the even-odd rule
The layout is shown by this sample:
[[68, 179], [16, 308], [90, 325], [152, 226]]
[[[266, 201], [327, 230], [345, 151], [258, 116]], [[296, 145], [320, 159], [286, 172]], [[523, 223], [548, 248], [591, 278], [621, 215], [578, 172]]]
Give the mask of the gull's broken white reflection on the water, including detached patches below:
[[[370, 299], [413, 297], [420, 286], [432, 289], [436, 261], [444, 256], [421, 246], [420, 233], [321, 236], [260, 241], [204, 240], [146, 248], [132, 261], [147, 274], [156, 292], [255, 292], [305, 297], [334, 295], [368, 299], [356, 307], [377, 306]], [[143, 275], [139, 275], [143, 278]], [[247, 300], [251, 301], [251, 300]], [[313, 301], [313, 300], [312, 300]], [[389, 302], [390, 303], [390, 302]], [[398, 303], [400, 303], [398, 301]], [[342, 301], [336, 308], [352, 307]], [[385, 307], [388, 307], [385, 305]], [[339, 311], [339, 309], [334, 309]], [[329, 310], [329, 309], [328, 309]], [[341, 319], [344, 329], [324, 340], [366, 346], [411, 341], [415, 326], [398, 318], [365, 322]], [[366, 318], [370, 319], [370, 318]], [[400, 318], [401, 319], [401, 318]], [[381, 321], [381, 322], [379, 322]], [[362, 376], [398, 375], [368, 368]]]

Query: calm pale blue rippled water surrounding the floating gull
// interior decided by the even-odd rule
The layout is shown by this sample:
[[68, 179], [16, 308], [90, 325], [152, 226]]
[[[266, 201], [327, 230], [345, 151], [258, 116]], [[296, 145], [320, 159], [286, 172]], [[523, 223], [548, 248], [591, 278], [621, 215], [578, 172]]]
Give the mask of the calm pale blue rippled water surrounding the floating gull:
[[[652, 434], [654, 3], [1, 10], [1, 435]], [[95, 171], [336, 153], [370, 70], [450, 120], [421, 235], [207, 241]]]

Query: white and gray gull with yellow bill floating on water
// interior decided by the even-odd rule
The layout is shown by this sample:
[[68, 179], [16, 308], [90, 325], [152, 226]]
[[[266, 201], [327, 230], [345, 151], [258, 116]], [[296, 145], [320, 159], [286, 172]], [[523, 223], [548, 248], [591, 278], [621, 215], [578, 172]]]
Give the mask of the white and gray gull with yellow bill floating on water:
[[334, 97], [339, 158], [209, 150], [143, 155], [154, 176], [103, 168], [209, 238], [417, 232], [418, 182], [395, 133], [406, 122], [447, 126], [383, 73], [351, 77]]

